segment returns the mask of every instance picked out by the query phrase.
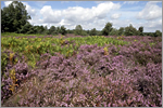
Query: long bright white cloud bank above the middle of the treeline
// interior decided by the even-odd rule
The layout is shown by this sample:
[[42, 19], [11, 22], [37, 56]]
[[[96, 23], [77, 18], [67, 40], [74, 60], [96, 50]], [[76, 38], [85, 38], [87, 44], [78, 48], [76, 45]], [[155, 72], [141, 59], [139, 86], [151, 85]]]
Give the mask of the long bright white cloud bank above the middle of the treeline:
[[[86, 25], [85, 29], [87, 29], [89, 28], [87, 26], [88, 23], [91, 25], [95, 21], [106, 18], [111, 11], [118, 10], [120, 8], [118, 3], [113, 2], [100, 3], [92, 8], [70, 6], [65, 10], [54, 10], [51, 5], [45, 5], [40, 10], [40, 15], [42, 16], [42, 21], [40, 22], [59, 26], [64, 25], [65, 27], [74, 27], [74, 25], [83, 24]], [[39, 23], [36, 18], [34, 21]]]

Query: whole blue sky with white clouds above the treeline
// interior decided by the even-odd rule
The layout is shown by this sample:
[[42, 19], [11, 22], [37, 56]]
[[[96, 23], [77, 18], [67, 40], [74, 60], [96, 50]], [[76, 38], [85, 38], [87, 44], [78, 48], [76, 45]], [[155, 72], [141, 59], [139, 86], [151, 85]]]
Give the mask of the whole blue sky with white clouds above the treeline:
[[[1, 1], [1, 9], [12, 1]], [[162, 31], [162, 1], [23, 1], [33, 25], [101, 30], [110, 22], [114, 28], [131, 24], [143, 31]]]

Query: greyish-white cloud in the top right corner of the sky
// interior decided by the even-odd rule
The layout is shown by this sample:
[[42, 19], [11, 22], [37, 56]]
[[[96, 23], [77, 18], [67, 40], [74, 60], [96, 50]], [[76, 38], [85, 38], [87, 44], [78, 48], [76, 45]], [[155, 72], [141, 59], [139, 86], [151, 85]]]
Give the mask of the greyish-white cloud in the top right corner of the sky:
[[162, 17], [162, 8], [156, 5], [158, 2], [149, 1], [145, 9], [138, 13], [137, 18], [155, 19]]

